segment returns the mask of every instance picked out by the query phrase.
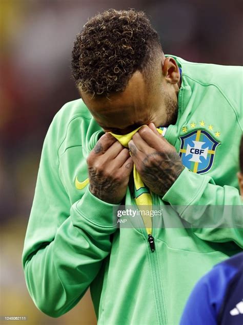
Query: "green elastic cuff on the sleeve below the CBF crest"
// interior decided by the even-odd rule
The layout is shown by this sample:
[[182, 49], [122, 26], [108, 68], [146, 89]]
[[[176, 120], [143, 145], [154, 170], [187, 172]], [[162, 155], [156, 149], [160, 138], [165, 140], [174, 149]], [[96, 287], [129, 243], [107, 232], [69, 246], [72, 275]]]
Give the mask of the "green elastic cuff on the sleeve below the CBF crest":
[[185, 167], [162, 199], [169, 202], [170, 205], [185, 207], [192, 204], [195, 198], [201, 196], [207, 184], [208, 179], [203, 175], [193, 173]]

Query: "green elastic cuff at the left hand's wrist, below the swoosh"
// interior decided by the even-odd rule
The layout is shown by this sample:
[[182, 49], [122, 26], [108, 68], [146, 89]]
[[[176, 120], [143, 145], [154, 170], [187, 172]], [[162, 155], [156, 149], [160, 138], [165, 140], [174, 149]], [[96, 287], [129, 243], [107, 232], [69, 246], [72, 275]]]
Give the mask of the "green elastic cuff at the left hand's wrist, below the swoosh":
[[99, 200], [90, 192], [89, 187], [74, 206], [77, 212], [90, 222], [102, 227], [114, 227], [113, 213], [119, 205]]

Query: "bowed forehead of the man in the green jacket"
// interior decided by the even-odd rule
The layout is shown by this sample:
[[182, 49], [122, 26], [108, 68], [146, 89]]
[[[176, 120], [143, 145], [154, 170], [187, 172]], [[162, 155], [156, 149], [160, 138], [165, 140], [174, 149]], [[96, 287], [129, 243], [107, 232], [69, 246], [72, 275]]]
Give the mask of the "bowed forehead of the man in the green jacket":
[[92, 98], [82, 94], [82, 98], [102, 127], [122, 128], [133, 123], [144, 122], [149, 114], [149, 94], [143, 75], [136, 71], [123, 93], [109, 98]]

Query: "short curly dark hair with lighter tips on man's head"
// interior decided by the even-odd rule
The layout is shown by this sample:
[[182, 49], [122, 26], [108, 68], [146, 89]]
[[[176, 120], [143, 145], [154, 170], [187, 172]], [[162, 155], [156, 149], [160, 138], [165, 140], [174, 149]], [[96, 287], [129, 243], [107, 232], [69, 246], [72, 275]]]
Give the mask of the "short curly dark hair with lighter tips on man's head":
[[123, 92], [136, 70], [149, 79], [157, 32], [142, 11], [109, 9], [92, 17], [76, 35], [72, 75], [77, 88], [93, 96]]

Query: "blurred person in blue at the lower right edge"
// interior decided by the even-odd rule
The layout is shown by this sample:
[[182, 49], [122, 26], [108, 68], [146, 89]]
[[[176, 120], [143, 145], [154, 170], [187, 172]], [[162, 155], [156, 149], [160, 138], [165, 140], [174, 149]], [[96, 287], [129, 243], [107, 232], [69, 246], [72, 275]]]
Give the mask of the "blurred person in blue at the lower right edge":
[[[243, 136], [238, 181], [243, 199]], [[202, 277], [187, 301], [180, 325], [243, 324], [243, 252], [223, 261]]]

